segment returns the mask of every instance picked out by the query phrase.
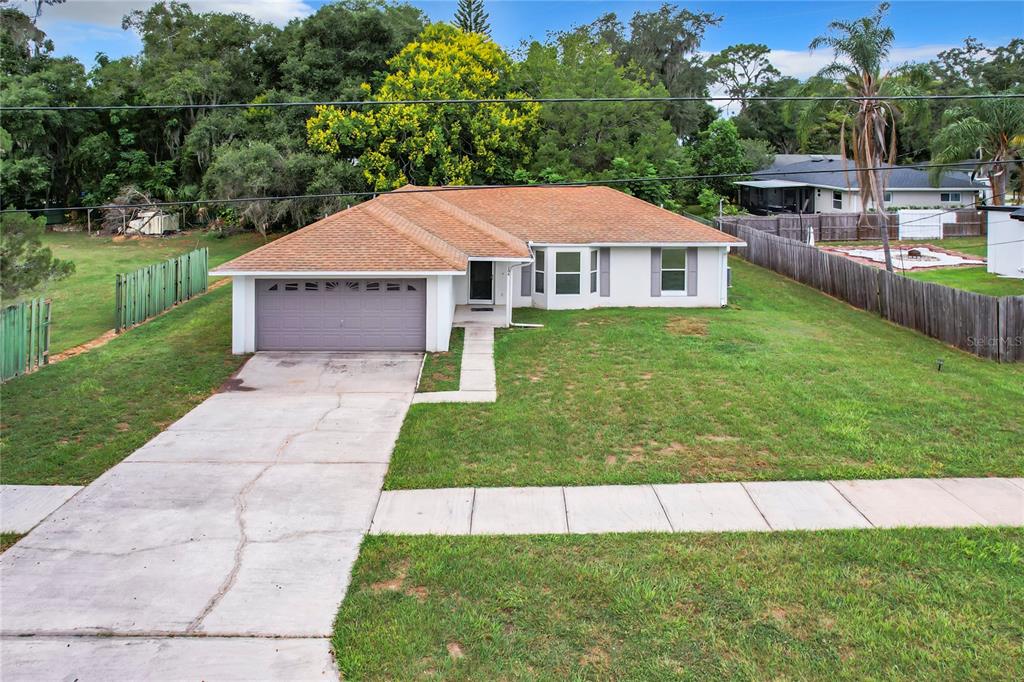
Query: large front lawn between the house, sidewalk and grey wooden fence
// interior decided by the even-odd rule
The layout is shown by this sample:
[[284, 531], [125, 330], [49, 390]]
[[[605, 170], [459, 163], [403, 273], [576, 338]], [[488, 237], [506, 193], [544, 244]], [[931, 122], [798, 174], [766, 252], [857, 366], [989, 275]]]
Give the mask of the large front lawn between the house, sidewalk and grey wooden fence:
[[414, 404], [386, 486], [1024, 472], [1024, 365], [731, 264], [726, 309], [516, 310], [498, 401]]

